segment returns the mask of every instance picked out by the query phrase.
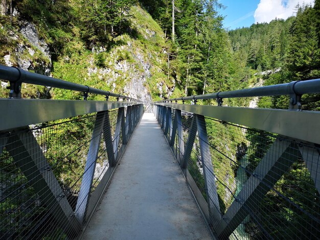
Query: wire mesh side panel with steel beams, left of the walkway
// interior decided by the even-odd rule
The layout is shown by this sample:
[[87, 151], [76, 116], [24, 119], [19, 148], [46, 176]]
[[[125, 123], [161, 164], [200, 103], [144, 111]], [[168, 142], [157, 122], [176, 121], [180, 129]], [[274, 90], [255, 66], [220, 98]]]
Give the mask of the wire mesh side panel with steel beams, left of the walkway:
[[1, 133], [0, 239], [76, 237], [140, 111], [129, 106]]

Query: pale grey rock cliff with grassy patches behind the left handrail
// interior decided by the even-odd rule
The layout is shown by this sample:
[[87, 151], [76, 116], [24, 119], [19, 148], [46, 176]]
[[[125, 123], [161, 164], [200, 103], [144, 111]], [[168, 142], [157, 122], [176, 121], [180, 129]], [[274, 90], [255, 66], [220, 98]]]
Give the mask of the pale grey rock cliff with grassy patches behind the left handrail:
[[[19, 15], [16, 9], [15, 12]], [[54, 61], [50, 52], [53, 47], [40, 37], [41, 27], [19, 17], [14, 30], [0, 26], [7, 31], [10, 42], [5, 51], [0, 51], [0, 63], [122, 93], [146, 103], [152, 102], [152, 97], [170, 97], [174, 82], [167, 80], [162, 69], [167, 55], [161, 27], [139, 6], [133, 6], [128, 14], [132, 16], [128, 33], [114, 39], [111, 49], [94, 46], [88, 51], [83, 50], [81, 43], [80, 51], [59, 53]], [[42, 36], [43, 30], [41, 33]], [[78, 36], [70, 41], [81, 39]], [[97, 63], [100, 56], [103, 56], [102, 64]]]

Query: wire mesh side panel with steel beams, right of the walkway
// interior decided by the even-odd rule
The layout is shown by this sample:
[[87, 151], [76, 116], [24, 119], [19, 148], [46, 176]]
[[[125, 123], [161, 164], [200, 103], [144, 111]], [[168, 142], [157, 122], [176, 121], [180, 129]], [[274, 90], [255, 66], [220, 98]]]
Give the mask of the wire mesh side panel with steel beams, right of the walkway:
[[[174, 122], [176, 111], [171, 114]], [[184, 146], [181, 150], [177, 131], [173, 153], [177, 159], [181, 156], [180, 165], [181, 158], [187, 158], [188, 173], [202, 194], [201, 198], [195, 194], [198, 204], [209, 203], [217, 237], [320, 238], [318, 145], [210, 117], [201, 122], [197, 117], [182, 115]], [[205, 139], [199, 134], [203, 127]], [[188, 155], [191, 133], [196, 137]], [[172, 135], [167, 138], [170, 141]], [[204, 151], [203, 145], [210, 151]]]

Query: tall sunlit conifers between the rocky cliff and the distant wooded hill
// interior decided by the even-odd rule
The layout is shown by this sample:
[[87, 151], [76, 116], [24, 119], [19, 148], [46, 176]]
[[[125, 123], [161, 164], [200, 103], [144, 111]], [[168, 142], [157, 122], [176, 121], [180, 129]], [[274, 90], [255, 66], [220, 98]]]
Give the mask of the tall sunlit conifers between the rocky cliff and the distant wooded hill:
[[179, 89], [174, 97], [248, 86], [253, 73], [237, 62], [217, 1], [140, 2], [165, 32], [168, 56], [163, 71]]

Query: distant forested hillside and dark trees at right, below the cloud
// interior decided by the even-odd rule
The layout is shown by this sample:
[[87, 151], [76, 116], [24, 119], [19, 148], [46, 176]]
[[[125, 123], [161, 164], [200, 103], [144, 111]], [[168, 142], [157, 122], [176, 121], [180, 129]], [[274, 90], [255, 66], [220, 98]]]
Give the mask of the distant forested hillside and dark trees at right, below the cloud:
[[[299, 6], [296, 17], [276, 19], [229, 32], [234, 54], [241, 65], [264, 74], [265, 85], [320, 78], [320, 1]], [[287, 109], [288, 97], [264, 97], [259, 107]], [[305, 110], [320, 110], [320, 98], [305, 95]]]

